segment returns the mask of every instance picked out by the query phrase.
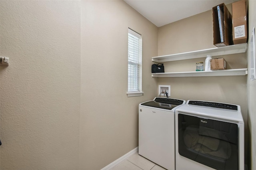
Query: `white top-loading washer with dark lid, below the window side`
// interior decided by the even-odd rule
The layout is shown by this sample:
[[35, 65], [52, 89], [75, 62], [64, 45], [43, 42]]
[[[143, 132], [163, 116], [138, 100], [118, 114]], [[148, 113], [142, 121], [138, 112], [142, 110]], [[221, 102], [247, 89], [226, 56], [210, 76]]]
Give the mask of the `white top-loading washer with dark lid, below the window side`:
[[156, 97], [139, 105], [139, 154], [175, 169], [175, 110], [186, 101]]

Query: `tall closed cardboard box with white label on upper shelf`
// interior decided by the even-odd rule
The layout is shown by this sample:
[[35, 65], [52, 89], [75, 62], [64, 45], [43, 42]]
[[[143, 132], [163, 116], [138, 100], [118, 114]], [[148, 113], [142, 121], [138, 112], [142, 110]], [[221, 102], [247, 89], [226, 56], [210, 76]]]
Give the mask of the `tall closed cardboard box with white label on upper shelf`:
[[232, 3], [232, 30], [234, 44], [247, 42], [247, 8], [245, 0]]

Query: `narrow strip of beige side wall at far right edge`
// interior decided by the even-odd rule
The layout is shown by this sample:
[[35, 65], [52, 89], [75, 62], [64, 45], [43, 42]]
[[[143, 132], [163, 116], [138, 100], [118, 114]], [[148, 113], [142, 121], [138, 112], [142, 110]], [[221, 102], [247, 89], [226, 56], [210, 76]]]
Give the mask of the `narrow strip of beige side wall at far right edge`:
[[[249, 0], [248, 1], [248, 13], [249, 13], [249, 27], [248, 27], [248, 42], [250, 42], [251, 35], [252, 35], [252, 28], [256, 27], [256, 1]], [[248, 66], [250, 66], [250, 43], [248, 44]], [[250, 75], [250, 67], [248, 67], [249, 75]], [[248, 130], [250, 131], [250, 136], [248, 137], [249, 142], [249, 153], [248, 157], [250, 158], [249, 166], [251, 169], [255, 169], [256, 167], [256, 80], [251, 81], [250, 76], [247, 78], [247, 85], [248, 85]]]

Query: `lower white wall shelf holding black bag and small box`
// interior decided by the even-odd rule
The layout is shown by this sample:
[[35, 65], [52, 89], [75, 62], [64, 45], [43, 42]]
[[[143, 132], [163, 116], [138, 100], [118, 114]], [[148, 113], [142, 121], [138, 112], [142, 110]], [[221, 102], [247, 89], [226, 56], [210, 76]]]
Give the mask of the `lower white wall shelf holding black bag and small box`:
[[152, 77], [203, 77], [203, 76], [232, 76], [247, 75], [247, 69], [228, 69], [215, 71], [192, 71], [175, 73], [152, 73]]

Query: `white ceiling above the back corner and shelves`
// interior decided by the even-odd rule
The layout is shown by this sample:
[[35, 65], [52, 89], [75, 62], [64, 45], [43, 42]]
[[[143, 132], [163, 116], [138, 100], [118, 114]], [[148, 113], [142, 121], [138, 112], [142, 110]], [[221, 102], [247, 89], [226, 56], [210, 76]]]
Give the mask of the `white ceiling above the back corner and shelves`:
[[211, 10], [237, 0], [124, 0], [157, 27]]

